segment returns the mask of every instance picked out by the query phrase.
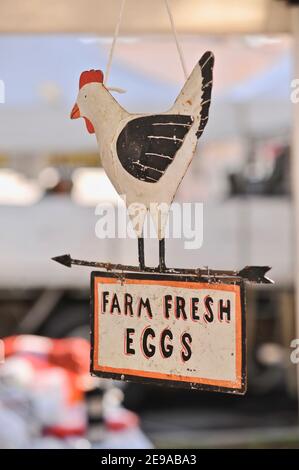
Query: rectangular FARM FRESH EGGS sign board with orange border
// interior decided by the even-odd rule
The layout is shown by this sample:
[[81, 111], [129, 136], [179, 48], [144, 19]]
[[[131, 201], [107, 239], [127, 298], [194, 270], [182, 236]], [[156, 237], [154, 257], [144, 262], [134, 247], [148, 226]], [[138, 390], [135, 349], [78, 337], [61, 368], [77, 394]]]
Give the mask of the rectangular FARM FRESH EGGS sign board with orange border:
[[240, 284], [92, 274], [92, 372], [245, 393]]

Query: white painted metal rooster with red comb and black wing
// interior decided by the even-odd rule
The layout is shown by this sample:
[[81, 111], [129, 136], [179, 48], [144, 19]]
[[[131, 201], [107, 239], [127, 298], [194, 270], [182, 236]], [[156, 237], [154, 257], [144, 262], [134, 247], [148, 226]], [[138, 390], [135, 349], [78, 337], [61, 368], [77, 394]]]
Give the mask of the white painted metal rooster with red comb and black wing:
[[84, 118], [95, 133], [103, 167], [124, 196], [138, 238], [139, 267], [145, 268], [143, 224], [150, 212], [159, 239], [159, 268], [165, 265], [165, 226], [177, 188], [194, 156], [209, 115], [214, 56], [206, 52], [172, 108], [163, 114], [131, 114], [103, 84], [100, 70], [83, 72], [71, 119]]

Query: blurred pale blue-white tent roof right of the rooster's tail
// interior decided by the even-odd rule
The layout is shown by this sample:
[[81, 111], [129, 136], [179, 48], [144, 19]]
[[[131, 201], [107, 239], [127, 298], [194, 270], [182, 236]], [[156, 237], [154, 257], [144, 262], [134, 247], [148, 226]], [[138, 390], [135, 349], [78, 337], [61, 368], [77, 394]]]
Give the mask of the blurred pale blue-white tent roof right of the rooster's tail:
[[236, 84], [211, 104], [207, 139], [290, 138], [292, 59], [283, 54], [262, 73]]

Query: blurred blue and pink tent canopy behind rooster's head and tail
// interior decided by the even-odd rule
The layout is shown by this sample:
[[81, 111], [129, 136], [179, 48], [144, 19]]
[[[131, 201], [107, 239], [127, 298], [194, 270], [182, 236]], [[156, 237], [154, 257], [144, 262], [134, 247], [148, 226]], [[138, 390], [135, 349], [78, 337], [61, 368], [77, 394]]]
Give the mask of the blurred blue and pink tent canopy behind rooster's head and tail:
[[[130, 41], [122, 39], [118, 44], [109, 84], [127, 90], [116, 97], [131, 111], [164, 111], [183, 84], [173, 40]], [[6, 102], [0, 105], [0, 152], [96, 151], [95, 139], [80, 120], [70, 121], [69, 112], [81, 71], [105, 70], [109, 44], [103, 38], [75, 35], [1, 37]], [[288, 42], [281, 40], [253, 50], [240, 38], [184, 38], [182, 45], [188, 70], [205, 50], [215, 51], [215, 87], [203, 139], [239, 135], [244, 130], [240, 114], [246, 115], [243, 126], [253, 135], [288, 131]], [[240, 54], [243, 61], [238, 60]]]

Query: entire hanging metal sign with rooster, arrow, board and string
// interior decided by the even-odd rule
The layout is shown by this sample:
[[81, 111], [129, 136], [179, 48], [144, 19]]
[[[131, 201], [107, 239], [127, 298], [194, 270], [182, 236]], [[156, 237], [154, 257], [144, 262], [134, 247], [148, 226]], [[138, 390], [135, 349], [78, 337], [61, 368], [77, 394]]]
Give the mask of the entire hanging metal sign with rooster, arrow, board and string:
[[[96, 134], [103, 168], [116, 191], [125, 196], [138, 239], [139, 266], [70, 255], [53, 259], [69, 268], [104, 270], [91, 275], [93, 374], [244, 394], [244, 281], [271, 283], [265, 276], [270, 268], [178, 269], [165, 263], [170, 206], [209, 117], [214, 56], [210, 51], [203, 54], [168, 111], [128, 112], [107, 87], [123, 5], [106, 78], [101, 70], [81, 74], [71, 118], [83, 118], [88, 132]], [[145, 260], [147, 213], [159, 240], [157, 267]]]

